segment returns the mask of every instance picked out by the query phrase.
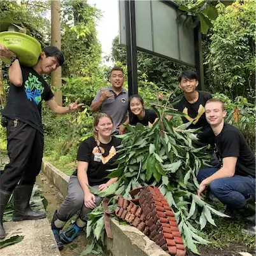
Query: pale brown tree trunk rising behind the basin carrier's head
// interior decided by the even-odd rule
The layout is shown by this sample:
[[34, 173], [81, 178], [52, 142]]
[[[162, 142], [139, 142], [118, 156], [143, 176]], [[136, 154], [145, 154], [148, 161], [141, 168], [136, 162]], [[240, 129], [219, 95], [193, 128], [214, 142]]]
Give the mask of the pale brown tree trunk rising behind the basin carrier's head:
[[[52, 0], [51, 2], [51, 43], [60, 49], [60, 0]], [[62, 106], [61, 92], [61, 67], [52, 72], [52, 85], [56, 87], [55, 99], [59, 106]]]

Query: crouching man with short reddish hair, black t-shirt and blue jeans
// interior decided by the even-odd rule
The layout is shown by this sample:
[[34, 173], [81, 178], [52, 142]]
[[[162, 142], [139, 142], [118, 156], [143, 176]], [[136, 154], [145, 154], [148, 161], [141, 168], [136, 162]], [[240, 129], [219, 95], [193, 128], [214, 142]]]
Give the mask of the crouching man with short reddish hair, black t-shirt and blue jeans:
[[205, 105], [206, 120], [215, 134], [217, 157], [222, 167], [199, 171], [198, 194], [209, 187], [231, 212], [237, 210], [248, 220], [245, 231], [256, 234], [256, 157], [245, 138], [232, 125], [225, 124], [224, 103], [210, 99]]

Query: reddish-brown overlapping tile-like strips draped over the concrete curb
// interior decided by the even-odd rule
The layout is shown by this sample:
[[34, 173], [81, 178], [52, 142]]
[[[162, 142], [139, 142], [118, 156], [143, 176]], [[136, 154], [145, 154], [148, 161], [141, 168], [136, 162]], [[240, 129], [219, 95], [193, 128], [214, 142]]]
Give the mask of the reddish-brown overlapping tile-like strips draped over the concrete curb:
[[138, 199], [132, 201], [119, 197], [116, 215], [137, 227], [170, 255], [185, 256], [176, 218], [159, 188], [148, 186], [130, 192], [132, 196], [136, 193]]

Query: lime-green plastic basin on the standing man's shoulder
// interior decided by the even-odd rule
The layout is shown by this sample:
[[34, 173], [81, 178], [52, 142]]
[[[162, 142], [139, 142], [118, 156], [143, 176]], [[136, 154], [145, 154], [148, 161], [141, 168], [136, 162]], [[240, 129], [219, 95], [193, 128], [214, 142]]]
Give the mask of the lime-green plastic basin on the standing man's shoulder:
[[[8, 46], [24, 66], [34, 66], [41, 54], [41, 45], [38, 40], [20, 32], [0, 32], [0, 44]], [[9, 59], [1, 59], [10, 64]]]

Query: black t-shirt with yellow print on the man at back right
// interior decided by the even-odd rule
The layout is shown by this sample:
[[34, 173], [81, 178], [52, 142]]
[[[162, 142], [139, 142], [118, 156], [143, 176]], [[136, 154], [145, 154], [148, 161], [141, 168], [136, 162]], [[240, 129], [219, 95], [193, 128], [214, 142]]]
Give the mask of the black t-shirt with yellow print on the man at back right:
[[185, 117], [182, 117], [183, 123], [192, 122], [189, 125], [188, 129], [197, 129], [199, 127], [203, 127], [202, 130], [209, 126], [206, 121], [204, 106], [208, 99], [211, 99], [210, 92], [198, 91], [199, 97], [195, 103], [188, 103], [185, 96], [181, 99], [181, 101], [174, 106], [174, 108], [178, 109], [186, 114]]

